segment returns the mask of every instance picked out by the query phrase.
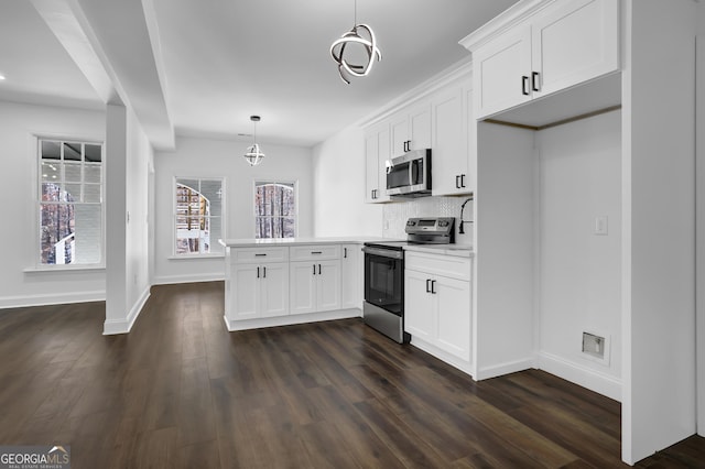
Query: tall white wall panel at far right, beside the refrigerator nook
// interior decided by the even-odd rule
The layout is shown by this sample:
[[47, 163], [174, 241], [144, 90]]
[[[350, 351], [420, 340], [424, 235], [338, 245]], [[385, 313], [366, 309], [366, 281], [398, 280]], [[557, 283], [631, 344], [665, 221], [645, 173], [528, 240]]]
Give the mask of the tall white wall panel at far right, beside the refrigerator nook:
[[622, 458], [633, 463], [695, 433], [697, 11], [626, 8]]

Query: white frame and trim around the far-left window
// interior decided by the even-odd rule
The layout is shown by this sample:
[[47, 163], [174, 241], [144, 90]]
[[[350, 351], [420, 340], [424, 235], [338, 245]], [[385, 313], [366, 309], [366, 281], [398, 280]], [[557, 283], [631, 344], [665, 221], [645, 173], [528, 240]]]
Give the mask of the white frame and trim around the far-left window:
[[[106, 181], [107, 181], [107, 152], [106, 143], [102, 139], [96, 139], [95, 137], [82, 138], [82, 137], [68, 137], [65, 134], [51, 134], [51, 133], [33, 133], [33, 153], [34, 153], [34, 174], [32, 188], [33, 200], [33, 242], [31, 257], [33, 259], [33, 268], [25, 269], [26, 272], [32, 271], [86, 271], [86, 270], [104, 270], [106, 268]], [[66, 142], [66, 143], [82, 143], [89, 145], [100, 145], [100, 262], [83, 263], [83, 264], [44, 264], [41, 258], [41, 210], [42, 205], [42, 141], [53, 142]]]

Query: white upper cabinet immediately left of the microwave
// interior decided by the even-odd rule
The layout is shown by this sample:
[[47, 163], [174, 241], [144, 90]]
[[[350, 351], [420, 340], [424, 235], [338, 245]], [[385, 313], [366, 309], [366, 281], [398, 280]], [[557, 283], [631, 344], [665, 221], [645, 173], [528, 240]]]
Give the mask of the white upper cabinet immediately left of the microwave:
[[390, 159], [389, 122], [383, 122], [365, 133], [365, 201], [389, 201], [387, 195], [387, 161]]

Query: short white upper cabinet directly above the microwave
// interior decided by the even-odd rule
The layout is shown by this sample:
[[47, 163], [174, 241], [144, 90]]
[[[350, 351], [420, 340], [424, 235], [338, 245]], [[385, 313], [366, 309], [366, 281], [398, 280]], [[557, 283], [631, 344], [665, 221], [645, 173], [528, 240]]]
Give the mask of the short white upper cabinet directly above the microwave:
[[431, 103], [404, 108], [390, 119], [391, 157], [431, 148]]

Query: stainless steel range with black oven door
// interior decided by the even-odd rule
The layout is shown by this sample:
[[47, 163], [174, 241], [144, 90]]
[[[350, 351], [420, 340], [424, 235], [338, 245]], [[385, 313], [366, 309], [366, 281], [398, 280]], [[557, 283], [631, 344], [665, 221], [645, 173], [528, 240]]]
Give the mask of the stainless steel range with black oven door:
[[455, 241], [452, 217], [410, 218], [406, 241], [366, 242], [365, 323], [399, 343], [404, 332], [404, 248], [410, 244], [447, 244]]

